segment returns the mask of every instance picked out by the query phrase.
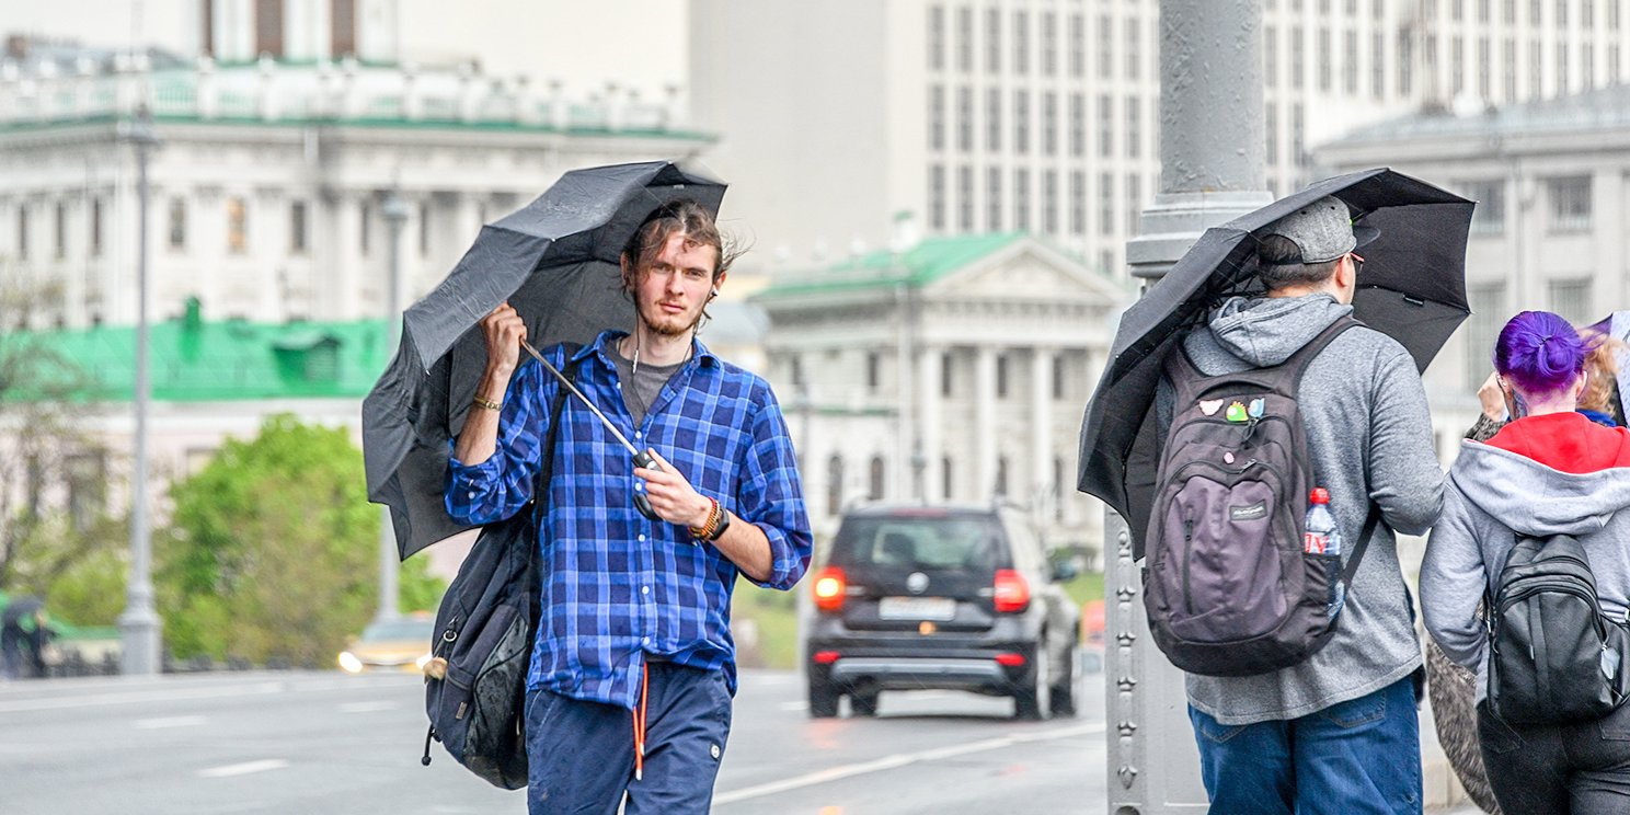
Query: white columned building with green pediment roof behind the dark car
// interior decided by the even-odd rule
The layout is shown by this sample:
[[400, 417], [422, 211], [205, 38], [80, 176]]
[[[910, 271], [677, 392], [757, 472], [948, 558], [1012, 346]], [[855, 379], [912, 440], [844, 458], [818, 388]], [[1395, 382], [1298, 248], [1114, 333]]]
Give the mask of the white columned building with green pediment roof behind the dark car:
[[1007, 500], [1051, 544], [1095, 549], [1081, 406], [1131, 297], [1020, 233], [778, 275], [753, 302], [817, 531], [859, 500]]

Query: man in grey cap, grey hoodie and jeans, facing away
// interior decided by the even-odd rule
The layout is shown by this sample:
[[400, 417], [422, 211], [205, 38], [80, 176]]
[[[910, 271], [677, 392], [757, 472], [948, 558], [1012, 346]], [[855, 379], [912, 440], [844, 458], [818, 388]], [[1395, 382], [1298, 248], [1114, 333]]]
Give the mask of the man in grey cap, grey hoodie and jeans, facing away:
[[[1206, 375], [1278, 365], [1353, 310], [1363, 258], [1346, 204], [1320, 199], [1257, 238], [1267, 295], [1227, 300], [1183, 341]], [[1372, 505], [1382, 523], [1324, 649], [1271, 673], [1187, 675], [1211, 812], [1420, 812], [1421, 650], [1394, 530], [1425, 533], [1443, 500], [1426, 391], [1397, 341], [1359, 326], [1314, 357], [1297, 403], [1346, 551]], [[1169, 381], [1157, 409], [1169, 425]]]

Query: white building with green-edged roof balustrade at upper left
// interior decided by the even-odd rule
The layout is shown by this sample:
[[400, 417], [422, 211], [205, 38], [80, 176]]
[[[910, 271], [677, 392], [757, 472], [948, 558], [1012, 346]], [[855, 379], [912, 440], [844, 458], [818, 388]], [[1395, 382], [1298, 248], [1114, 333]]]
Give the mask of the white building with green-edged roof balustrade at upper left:
[[[388, 310], [386, 202], [404, 207], [404, 303], [481, 225], [572, 168], [693, 158], [668, 104], [574, 99], [354, 57], [217, 64], [13, 41], [0, 62], [0, 280], [44, 292], [0, 324], [135, 321], [135, 111], [155, 318], [357, 319]], [[394, 204], [394, 200], [393, 200]], [[15, 310], [13, 310], [15, 311]]]

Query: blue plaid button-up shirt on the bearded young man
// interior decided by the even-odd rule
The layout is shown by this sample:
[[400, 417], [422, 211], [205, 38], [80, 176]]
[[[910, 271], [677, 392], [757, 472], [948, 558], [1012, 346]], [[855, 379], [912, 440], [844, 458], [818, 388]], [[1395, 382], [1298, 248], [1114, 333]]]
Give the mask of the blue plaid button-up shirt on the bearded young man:
[[[769, 538], [771, 574], [761, 585], [792, 588], [810, 562], [787, 425], [769, 385], [720, 362], [701, 342], [634, 427], [606, 331], [579, 350], [574, 383], [634, 447], [652, 447], [703, 496], [758, 525]], [[546, 359], [564, 370], [566, 350]], [[463, 523], [492, 523], [526, 509], [548, 437], [557, 380], [530, 357], [517, 367], [499, 421], [497, 452], [473, 466], [452, 461], [447, 512]], [[528, 688], [621, 704], [639, 699], [649, 657], [724, 670], [735, 691], [730, 590], [737, 569], [685, 525], [652, 522], [634, 509], [644, 481], [623, 445], [575, 398], [562, 409], [549, 481], [543, 548], [543, 619]]]

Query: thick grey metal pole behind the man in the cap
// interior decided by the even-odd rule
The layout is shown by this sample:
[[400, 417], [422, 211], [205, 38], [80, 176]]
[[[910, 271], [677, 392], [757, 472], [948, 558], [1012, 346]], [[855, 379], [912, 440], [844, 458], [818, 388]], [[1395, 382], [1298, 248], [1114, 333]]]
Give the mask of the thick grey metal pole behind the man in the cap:
[[[1161, 192], [1126, 243], [1152, 285], [1208, 227], [1271, 202], [1263, 184], [1260, 0], [1161, 0]], [[1201, 813], [1183, 675], [1149, 641], [1126, 520], [1105, 512], [1108, 812]]]

